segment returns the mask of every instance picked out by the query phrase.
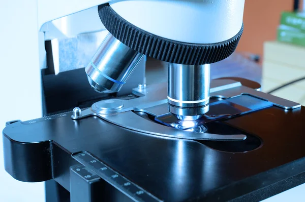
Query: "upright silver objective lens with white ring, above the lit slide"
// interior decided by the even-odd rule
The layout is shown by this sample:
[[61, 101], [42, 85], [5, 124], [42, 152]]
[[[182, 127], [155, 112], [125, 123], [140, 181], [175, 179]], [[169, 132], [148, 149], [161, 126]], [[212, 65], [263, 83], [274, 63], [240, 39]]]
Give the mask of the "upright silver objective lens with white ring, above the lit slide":
[[195, 120], [209, 110], [210, 65], [168, 64], [169, 111]]

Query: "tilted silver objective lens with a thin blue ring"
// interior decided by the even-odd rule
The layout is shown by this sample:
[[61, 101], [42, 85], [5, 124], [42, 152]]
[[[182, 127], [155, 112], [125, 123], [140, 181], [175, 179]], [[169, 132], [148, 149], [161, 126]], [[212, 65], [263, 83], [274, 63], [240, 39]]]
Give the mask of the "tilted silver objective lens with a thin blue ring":
[[143, 56], [108, 33], [85, 68], [91, 87], [100, 93], [118, 92]]

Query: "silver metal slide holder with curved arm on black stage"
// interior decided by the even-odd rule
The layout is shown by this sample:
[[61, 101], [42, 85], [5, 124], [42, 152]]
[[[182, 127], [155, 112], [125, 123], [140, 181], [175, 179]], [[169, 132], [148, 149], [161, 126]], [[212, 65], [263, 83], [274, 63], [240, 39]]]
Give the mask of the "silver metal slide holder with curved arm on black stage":
[[[229, 98], [235, 97], [241, 94], [251, 94], [261, 99], [273, 102], [275, 106], [279, 106], [284, 109], [294, 109], [301, 105], [295, 102], [291, 102], [282, 98], [278, 98], [273, 95], [265, 94], [256, 91], [251, 88], [243, 87], [239, 82], [234, 80], [212, 80], [211, 82], [210, 97]], [[130, 130], [158, 135], [171, 138], [192, 139], [192, 140], [243, 140], [245, 135], [219, 135], [208, 133], [196, 133], [190, 131], [179, 130], [170, 128], [160, 124], [156, 124], [140, 117], [132, 112], [143, 111], [152, 115], [161, 115], [167, 113], [167, 86], [166, 84], [157, 84], [147, 86], [145, 89], [133, 89], [135, 95], [140, 96], [132, 100], [121, 100], [124, 106], [119, 110], [110, 110], [109, 114], [101, 114], [94, 112], [92, 108], [83, 110], [81, 116], [73, 117], [73, 119], [80, 119], [87, 116], [98, 116], [102, 119], [115, 124], [117, 126], [127, 128]], [[108, 112], [107, 112], [108, 113]]]

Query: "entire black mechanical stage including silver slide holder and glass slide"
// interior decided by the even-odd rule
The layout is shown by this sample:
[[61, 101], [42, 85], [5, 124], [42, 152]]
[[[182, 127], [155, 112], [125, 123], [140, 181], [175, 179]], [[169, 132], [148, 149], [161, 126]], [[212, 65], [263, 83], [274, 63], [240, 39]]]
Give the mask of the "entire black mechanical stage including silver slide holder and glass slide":
[[305, 107], [213, 82], [211, 114], [197, 128], [155, 120], [168, 112], [166, 85], [9, 123], [5, 169], [20, 181], [54, 179], [73, 202], [258, 201], [305, 183]]

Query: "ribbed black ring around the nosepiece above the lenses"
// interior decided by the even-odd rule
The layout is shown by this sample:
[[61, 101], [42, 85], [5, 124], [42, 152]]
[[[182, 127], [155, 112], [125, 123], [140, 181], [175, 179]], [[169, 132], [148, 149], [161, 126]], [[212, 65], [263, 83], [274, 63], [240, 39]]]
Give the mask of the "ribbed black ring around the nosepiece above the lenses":
[[109, 4], [98, 7], [99, 16], [108, 31], [126, 46], [158, 60], [187, 65], [210, 64], [230, 56], [243, 31], [227, 41], [215, 44], [190, 44], [172, 41], [144, 31], [120, 17]]

